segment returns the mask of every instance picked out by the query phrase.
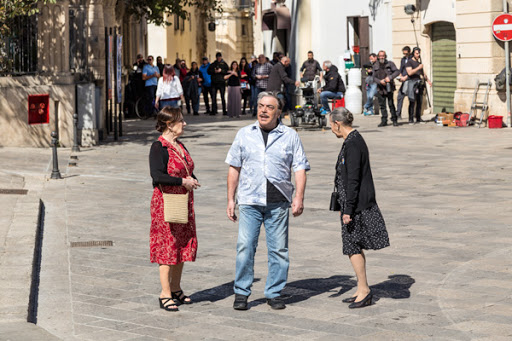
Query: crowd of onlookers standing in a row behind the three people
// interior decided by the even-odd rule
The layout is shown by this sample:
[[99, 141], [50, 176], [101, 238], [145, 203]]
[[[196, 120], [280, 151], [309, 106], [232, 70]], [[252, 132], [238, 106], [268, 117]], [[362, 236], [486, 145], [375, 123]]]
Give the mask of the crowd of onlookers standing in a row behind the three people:
[[[222, 103], [222, 115], [240, 117], [256, 116], [256, 98], [263, 91], [282, 92], [285, 103], [291, 103], [290, 91], [299, 82], [291, 78], [290, 59], [281, 52], [275, 52], [272, 60], [261, 54], [242, 57], [240, 61], [228, 64], [217, 52], [215, 60], [202, 58], [199, 66], [193, 61], [190, 68], [183, 59], [176, 59], [174, 65], [164, 64], [162, 57], [146, 59], [137, 56], [133, 64], [138, 77], [137, 93], [143, 94], [147, 103], [157, 110], [165, 106], [186, 107], [186, 113], [199, 115], [200, 97], [203, 95], [206, 115], [217, 115], [217, 94]], [[227, 87], [227, 102], [226, 102]], [[286, 107], [285, 107], [286, 109]]]

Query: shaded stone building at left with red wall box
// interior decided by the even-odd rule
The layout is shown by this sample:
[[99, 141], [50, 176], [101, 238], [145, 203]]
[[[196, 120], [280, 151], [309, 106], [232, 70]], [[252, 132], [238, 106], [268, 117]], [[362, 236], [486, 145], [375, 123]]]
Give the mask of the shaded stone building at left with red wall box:
[[146, 51], [145, 22], [116, 0], [58, 0], [38, 9], [19, 19], [30, 30], [2, 37], [14, 62], [0, 75], [0, 146], [48, 147], [57, 131], [60, 145], [69, 147], [74, 113], [79, 143], [94, 145], [109, 133], [105, 28], [118, 27], [124, 37], [126, 82], [136, 54]]

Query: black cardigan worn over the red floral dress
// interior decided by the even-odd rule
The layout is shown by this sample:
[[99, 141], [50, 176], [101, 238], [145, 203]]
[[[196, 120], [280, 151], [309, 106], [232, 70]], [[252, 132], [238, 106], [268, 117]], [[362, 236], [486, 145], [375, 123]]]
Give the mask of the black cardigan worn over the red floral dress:
[[[185, 146], [179, 142], [179, 144], [185, 148]], [[188, 150], [187, 150], [188, 152]], [[186, 159], [185, 159], [186, 161]], [[151, 149], [149, 151], [149, 172], [151, 174], [151, 178], [153, 178], [153, 187], [158, 185], [164, 186], [181, 186], [183, 183], [183, 179], [176, 176], [170, 176], [167, 173], [167, 164], [169, 163], [169, 152], [167, 151], [167, 147], [162, 146], [162, 142], [155, 141], [151, 145]], [[192, 173], [192, 177], [197, 180], [194, 173]]]

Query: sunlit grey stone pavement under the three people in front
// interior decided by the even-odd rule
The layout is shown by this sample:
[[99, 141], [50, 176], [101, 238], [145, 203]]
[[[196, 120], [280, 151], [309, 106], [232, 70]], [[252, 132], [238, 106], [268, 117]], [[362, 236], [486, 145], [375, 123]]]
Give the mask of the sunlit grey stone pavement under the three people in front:
[[[250, 310], [234, 311], [237, 225], [225, 215], [224, 158], [252, 118], [187, 117], [183, 142], [196, 162], [199, 252], [182, 286], [195, 304], [159, 309], [149, 263], [148, 169], [152, 121], [127, 121], [119, 142], [82, 149], [64, 180], [47, 181], [37, 324], [66, 340], [510, 340], [512, 338], [512, 135], [509, 129], [355, 124], [370, 149], [377, 201], [391, 246], [370, 251], [377, 302], [349, 310], [355, 290], [328, 211], [341, 148], [330, 131], [299, 134], [312, 170], [305, 211], [290, 218], [287, 308], [263, 287], [262, 233]], [[69, 247], [113, 241], [112, 247]]]

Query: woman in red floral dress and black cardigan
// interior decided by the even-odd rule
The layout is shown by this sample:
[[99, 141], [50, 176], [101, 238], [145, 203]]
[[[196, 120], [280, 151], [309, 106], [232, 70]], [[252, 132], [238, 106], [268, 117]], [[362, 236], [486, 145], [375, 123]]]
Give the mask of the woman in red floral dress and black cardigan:
[[[195, 178], [194, 161], [185, 146], [178, 141], [187, 124], [181, 109], [165, 107], [157, 116], [156, 130], [162, 133], [151, 145], [149, 168], [153, 178], [151, 199], [150, 257], [160, 269], [160, 308], [178, 311], [178, 305], [192, 301], [181, 290], [183, 262], [196, 259], [197, 237], [193, 190], [199, 185]], [[189, 191], [186, 224], [167, 223], [164, 220], [164, 193], [185, 194]]]

